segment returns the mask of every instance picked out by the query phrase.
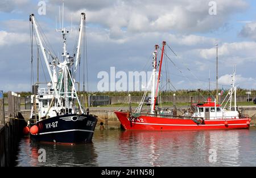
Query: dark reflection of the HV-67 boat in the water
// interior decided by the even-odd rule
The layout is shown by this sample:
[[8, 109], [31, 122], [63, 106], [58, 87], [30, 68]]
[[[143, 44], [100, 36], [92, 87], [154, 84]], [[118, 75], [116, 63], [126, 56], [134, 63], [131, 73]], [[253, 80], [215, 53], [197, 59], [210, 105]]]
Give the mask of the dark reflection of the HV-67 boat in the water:
[[[46, 162], [39, 162], [39, 149], [46, 150]], [[21, 141], [19, 154], [17, 166], [98, 166], [93, 143], [59, 145], [33, 142], [27, 137]], [[24, 159], [28, 160], [25, 165]]]

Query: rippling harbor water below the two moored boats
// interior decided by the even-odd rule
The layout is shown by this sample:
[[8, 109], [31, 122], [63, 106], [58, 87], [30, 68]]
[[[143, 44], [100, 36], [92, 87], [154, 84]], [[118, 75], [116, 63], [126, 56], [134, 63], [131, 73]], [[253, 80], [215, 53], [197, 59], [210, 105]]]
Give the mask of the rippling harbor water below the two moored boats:
[[[45, 151], [45, 160], [40, 150]], [[19, 143], [16, 166], [256, 166], [256, 129], [96, 131], [93, 143]]]

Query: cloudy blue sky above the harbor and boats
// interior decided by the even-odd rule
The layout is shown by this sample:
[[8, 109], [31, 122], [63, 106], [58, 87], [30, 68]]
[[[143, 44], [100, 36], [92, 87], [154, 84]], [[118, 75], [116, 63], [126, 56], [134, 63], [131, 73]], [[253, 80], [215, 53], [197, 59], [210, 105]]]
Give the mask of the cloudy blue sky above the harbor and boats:
[[[46, 5], [45, 14], [38, 12], [42, 2]], [[52, 52], [61, 53], [61, 34], [55, 28], [62, 3], [59, 0], [1, 0], [0, 90], [30, 91], [31, 83], [36, 82], [35, 44], [31, 78], [30, 14], [35, 14]], [[211, 9], [213, 4], [215, 11]], [[236, 64], [237, 86], [248, 90], [256, 88], [255, 1], [64, 1], [64, 26], [71, 28], [72, 22], [73, 29], [67, 36], [69, 53], [73, 52], [81, 12], [86, 14], [88, 65], [85, 69], [88, 69], [89, 91], [98, 91], [101, 80], [98, 73], [106, 71], [110, 76], [110, 67], [115, 67], [116, 73], [123, 71], [127, 75], [129, 71], [151, 71], [154, 46], [158, 44], [162, 48], [162, 41], [177, 55], [166, 46], [170, 60], [165, 57], [163, 62], [163, 89], [208, 89], [210, 75], [210, 88], [214, 90], [216, 44], [219, 87], [230, 88]], [[42, 54], [40, 56], [40, 80], [48, 82], [49, 75]], [[80, 83], [84, 81], [84, 58], [81, 54], [80, 78], [77, 77]], [[87, 88], [86, 78], [85, 72]], [[117, 82], [118, 78], [114, 80]], [[167, 84], [168, 80], [171, 85]]]

